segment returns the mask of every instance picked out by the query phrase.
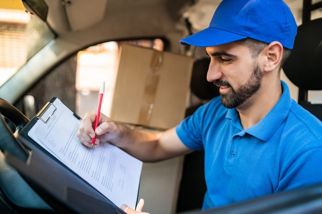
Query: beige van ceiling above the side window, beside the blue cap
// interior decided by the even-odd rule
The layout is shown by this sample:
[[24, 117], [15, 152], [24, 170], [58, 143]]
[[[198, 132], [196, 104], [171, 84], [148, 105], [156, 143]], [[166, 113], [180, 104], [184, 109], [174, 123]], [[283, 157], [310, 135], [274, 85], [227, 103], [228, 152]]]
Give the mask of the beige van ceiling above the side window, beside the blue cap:
[[[74, 43], [118, 39], [187, 36], [185, 18], [192, 32], [208, 27], [221, 0], [44, 0], [47, 23], [55, 33]], [[297, 21], [302, 0], [285, 0]]]

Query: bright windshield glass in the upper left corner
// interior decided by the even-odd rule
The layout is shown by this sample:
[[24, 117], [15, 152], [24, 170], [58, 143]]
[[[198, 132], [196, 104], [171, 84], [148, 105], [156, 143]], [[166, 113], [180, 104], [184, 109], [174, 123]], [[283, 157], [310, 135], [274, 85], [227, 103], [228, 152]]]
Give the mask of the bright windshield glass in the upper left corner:
[[55, 37], [46, 22], [20, 9], [0, 9], [0, 86]]

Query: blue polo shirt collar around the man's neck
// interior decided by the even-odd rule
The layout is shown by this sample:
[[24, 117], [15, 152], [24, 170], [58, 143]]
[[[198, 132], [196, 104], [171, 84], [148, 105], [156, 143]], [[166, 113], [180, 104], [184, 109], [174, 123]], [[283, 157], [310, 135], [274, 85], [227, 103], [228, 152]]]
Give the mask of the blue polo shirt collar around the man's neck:
[[[260, 120], [256, 125], [242, 131], [242, 135], [246, 132], [262, 141], [269, 141], [273, 134], [277, 131], [280, 124], [289, 114], [292, 100], [289, 93], [289, 87], [284, 81], [281, 81], [283, 94], [279, 101], [270, 110], [270, 112]], [[236, 108], [228, 109], [226, 118], [233, 119], [238, 115]]]

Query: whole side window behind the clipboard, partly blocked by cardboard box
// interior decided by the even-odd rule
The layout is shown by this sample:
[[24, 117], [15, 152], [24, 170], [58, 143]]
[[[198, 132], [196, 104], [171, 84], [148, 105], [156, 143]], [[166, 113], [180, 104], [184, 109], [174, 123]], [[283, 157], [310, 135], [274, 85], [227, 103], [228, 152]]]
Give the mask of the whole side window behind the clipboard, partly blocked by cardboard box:
[[[82, 117], [86, 112], [97, 108], [102, 81], [105, 81], [102, 112], [109, 115], [118, 69], [119, 47], [122, 43], [164, 50], [161, 39], [137, 39], [105, 42], [78, 51], [24, 94], [24, 102], [27, 102], [24, 103], [25, 115], [34, 116], [49, 99], [57, 97]], [[30, 96], [33, 99], [28, 104]], [[28, 109], [33, 109], [33, 112], [28, 112]]]

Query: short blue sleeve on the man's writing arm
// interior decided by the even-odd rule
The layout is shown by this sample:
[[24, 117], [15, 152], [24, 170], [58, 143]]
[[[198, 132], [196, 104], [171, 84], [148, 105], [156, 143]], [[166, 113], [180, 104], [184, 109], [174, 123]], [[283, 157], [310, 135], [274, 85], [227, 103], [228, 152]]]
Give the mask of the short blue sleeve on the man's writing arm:
[[203, 150], [202, 124], [206, 107], [199, 107], [192, 116], [186, 117], [175, 131], [186, 147], [192, 150]]

